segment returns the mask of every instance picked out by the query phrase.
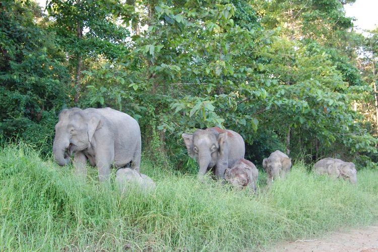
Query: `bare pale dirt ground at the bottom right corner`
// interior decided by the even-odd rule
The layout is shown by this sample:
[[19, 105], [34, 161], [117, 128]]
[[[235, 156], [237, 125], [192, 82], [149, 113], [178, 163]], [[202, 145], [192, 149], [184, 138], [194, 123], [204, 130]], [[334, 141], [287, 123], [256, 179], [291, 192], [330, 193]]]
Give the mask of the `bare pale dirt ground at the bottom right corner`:
[[357, 229], [330, 232], [319, 239], [296, 240], [276, 244], [267, 251], [350, 251], [378, 252], [378, 224]]

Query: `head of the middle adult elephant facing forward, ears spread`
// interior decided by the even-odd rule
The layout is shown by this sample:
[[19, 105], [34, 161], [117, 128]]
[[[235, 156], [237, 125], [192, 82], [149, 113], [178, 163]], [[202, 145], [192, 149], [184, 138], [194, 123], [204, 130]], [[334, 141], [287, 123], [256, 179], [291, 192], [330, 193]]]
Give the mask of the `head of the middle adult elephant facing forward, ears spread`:
[[197, 130], [194, 134], [181, 135], [187, 153], [197, 160], [200, 166], [199, 176], [204, 175], [209, 167], [217, 164], [222, 148], [227, 148], [227, 132], [218, 133], [213, 129]]

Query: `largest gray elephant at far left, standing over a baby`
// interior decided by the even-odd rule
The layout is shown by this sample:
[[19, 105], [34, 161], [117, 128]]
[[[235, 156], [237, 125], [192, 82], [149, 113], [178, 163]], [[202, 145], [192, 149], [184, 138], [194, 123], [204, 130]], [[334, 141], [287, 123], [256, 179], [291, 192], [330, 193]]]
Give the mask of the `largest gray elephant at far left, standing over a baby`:
[[75, 153], [75, 170], [84, 177], [88, 160], [97, 166], [99, 180], [105, 181], [111, 165], [132, 162], [139, 171], [141, 131], [133, 117], [111, 108], [64, 109], [55, 125], [52, 152], [60, 166], [68, 164]]

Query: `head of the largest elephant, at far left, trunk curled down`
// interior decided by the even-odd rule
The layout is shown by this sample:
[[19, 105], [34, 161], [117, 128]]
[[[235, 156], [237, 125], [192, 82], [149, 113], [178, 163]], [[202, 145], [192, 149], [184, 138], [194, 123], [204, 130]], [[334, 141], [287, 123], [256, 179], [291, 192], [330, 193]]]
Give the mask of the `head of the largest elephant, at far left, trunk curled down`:
[[52, 146], [55, 161], [60, 166], [68, 164], [72, 153], [88, 148], [96, 129], [100, 127], [99, 117], [90, 117], [80, 108], [62, 110], [55, 125]]

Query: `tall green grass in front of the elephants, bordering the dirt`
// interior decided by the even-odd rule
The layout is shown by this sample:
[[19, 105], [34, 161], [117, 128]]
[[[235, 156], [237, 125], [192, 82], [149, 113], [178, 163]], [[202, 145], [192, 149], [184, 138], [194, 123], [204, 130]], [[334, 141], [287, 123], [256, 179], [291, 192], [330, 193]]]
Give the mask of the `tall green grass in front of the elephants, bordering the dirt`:
[[[0, 250], [238, 251], [313, 237], [378, 219], [378, 172], [361, 170], [353, 186], [294, 165], [259, 194], [203, 184], [142, 163], [157, 188], [121, 197], [114, 178], [86, 183], [72, 167], [43, 161], [25, 146], [0, 150]], [[113, 172], [114, 173], [114, 172]], [[114, 175], [114, 174], [113, 174]]]

